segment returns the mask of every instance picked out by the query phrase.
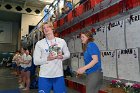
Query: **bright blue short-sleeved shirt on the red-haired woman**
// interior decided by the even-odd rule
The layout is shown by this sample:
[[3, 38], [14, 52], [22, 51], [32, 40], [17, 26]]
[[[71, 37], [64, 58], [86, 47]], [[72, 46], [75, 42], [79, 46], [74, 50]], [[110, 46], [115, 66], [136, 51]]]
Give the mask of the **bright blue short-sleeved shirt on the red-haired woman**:
[[100, 50], [94, 42], [89, 42], [87, 45], [87, 49], [84, 52], [85, 65], [89, 64], [93, 60], [92, 55], [98, 56], [98, 62], [90, 69], [87, 69], [86, 74], [90, 74], [90, 73], [95, 72], [97, 70], [101, 70]]

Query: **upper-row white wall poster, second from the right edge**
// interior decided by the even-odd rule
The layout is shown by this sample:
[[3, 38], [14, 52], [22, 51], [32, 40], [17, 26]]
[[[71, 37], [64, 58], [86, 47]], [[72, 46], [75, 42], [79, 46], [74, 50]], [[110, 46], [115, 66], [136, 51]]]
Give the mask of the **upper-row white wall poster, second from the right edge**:
[[109, 50], [124, 49], [125, 45], [125, 32], [124, 20], [115, 20], [107, 25], [107, 43]]

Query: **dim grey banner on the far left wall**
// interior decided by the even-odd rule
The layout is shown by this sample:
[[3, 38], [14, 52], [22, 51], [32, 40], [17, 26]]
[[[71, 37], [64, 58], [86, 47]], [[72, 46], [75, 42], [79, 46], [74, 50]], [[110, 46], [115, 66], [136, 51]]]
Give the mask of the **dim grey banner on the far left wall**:
[[12, 43], [12, 23], [0, 21], [0, 43]]

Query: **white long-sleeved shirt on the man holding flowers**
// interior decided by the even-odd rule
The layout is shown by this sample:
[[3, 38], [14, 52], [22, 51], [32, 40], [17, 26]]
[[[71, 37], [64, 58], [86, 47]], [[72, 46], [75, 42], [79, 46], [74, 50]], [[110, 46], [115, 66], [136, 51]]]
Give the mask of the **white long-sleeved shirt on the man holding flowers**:
[[[64, 53], [63, 59], [54, 59], [47, 61], [49, 55], [49, 46], [56, 44], [60, 47], [60, 50]], [[63, 76], [63, 66], [62, 61], [70, 57], [70, 52], [68, 50], [67, 44], [64, 39], [57, 38], [53, 40], [48, 40], [46, 38], [38, 41], [34, 50], [34, 64], [40, 65], [40, 77], [45, 78], [55, 78]]]

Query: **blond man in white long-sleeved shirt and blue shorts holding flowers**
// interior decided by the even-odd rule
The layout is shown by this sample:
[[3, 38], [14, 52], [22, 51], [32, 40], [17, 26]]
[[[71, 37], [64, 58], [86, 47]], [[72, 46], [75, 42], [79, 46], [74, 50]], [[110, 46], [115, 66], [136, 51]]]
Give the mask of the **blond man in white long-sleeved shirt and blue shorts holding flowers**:
[[70, 57], [64, 39], [54, 36], [52, 23], [44, 23], [45, 38], [38, 41], [34, 50], [34, 64], [40, 65], [39, 93], [66, 93], [62, 61]]

